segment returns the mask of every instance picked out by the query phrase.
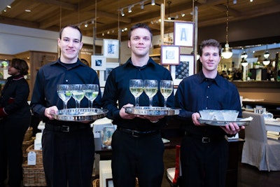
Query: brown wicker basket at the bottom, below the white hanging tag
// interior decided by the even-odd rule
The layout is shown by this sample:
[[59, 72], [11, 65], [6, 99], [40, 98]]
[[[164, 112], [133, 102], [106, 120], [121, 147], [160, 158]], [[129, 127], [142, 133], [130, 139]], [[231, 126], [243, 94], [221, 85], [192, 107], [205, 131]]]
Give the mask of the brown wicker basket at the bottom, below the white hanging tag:
[[47, 186], [43, 165], [22, 165], [23, 186]]

